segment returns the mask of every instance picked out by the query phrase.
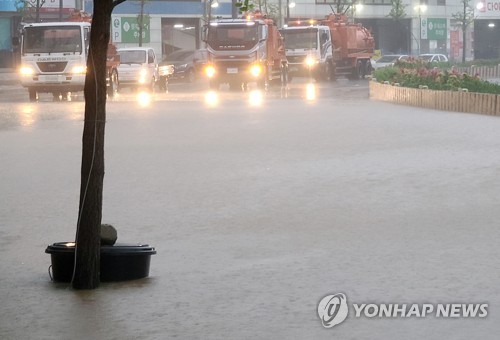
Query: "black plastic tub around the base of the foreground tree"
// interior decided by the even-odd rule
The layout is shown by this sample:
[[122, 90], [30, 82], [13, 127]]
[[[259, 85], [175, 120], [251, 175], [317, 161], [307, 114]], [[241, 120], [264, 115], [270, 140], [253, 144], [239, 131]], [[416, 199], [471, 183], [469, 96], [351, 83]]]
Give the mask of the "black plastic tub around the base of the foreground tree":
[[[52, 279], [71, 282], [75, 263], [75, 243], [58, 242], [45, 249], [52, 261]], [[101, 246], [101, 281], [125, 281], [149, 276], [151, 255], [155, 248], [147, 244]]]

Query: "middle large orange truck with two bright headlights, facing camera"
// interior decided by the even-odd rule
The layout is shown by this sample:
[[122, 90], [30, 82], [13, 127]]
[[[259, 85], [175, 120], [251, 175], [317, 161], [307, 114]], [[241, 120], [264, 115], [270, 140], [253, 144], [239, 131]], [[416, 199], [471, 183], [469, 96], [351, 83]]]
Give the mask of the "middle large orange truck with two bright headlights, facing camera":
[[254, 82], [265, 89], [270, 84], [286, 84], [288, 62], [283, 38], [274, 21], [262, 13], [211, 21], [205, 26], [204, 41], [210, 88], [229, 84], [230, 89], [245, 89]]

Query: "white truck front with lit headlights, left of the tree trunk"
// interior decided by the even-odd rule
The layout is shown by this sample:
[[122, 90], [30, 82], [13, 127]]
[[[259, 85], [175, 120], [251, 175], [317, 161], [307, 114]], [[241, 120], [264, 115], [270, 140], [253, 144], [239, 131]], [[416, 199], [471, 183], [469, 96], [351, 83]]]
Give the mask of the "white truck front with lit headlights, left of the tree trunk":
[[21, 84], [30, 101], [38, 94], [52, 93], [66, 99], [83, 91], [90, 41], [88, 22], [26, 24], [21, 35]]

